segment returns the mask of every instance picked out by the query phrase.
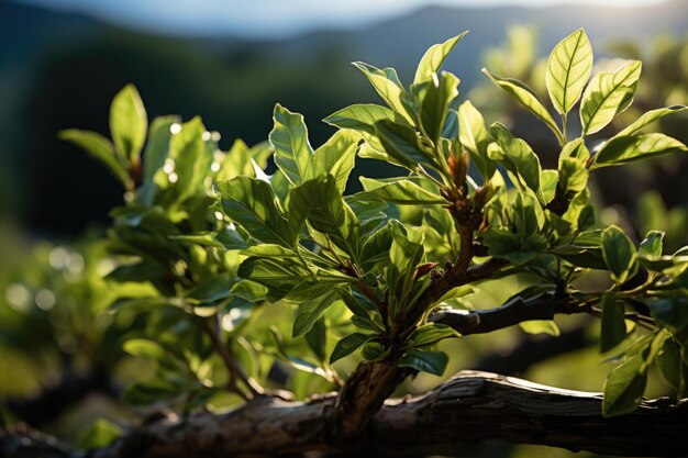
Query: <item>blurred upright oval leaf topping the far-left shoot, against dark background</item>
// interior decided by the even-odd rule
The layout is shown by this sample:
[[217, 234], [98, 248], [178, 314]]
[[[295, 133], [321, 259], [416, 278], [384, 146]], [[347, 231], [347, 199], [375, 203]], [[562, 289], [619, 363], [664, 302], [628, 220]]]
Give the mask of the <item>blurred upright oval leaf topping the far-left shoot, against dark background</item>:
[[115, 152], [130, 163], [138, 163], [138, 154], [146, 141], [148, 120], [138, 91], [134, 85], [126, 85], [110, 105], [110, 134]]

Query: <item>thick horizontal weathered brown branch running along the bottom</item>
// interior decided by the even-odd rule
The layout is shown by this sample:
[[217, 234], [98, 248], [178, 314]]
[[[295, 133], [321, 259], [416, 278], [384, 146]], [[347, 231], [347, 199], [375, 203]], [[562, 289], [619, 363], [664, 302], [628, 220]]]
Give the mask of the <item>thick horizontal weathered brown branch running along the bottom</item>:
[[264, 396], [230, 413], [167, 417], [130, 431], [89, 458], [389, 454], [493, 439], [636, 457], [681, 456], [688, 449], [688, 400], [643, 401], [631, 414], [604, 418], [599, 393], [487, 372], [464, 371], [424, 395], [388, 401], [357, 440], [331, 439], [326, 425], [334, 403], [333, 395], [310, 403]]

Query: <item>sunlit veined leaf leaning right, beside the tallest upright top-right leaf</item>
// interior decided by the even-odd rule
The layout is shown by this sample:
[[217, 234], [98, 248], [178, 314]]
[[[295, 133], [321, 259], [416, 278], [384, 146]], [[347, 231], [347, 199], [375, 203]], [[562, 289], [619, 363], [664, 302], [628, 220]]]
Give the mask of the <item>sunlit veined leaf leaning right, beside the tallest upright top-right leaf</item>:
[[580, 124], [582, 135], [601, 131], [633, 101], [642, 63], [634, 60], [615, 72], [597, 74], [582, 94]]

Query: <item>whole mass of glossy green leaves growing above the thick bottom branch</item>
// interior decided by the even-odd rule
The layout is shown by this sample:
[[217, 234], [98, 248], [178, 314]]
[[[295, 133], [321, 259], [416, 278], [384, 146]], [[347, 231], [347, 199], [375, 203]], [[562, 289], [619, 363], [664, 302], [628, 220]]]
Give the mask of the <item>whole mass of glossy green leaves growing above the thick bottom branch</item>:
[[[336, 389], [359, 360], [441, 376], [450, 355], [439, 342], [492, 331], [480, 329], [481, 308], [466, 310], [466, 299], [495, 288], [486, 280], [514, 278], [521, 288], [504, 306], [552, 312], [496, 328], [526, 322], [556, 334], [543, 317], [601, 316], [601, 349], [619, 348], [606, 415], [635, 409], [655, 361], [686, 395], [688, 247], [665, 254], [662, 232], [636, 245], [622, 228], [596, 224], [587, 186], [598, 169], [688, 150], [641, 132], [643, 116], [590, 150], [589, 135], [631, 104], [640, 62], [589, 80], [585, 32], [565, 37], [545, 78], [555, 115], [523, 82], [485, 71], [554, 134], [557, 166], [546, 169], [507, 126], [486, 126], [469, 101], [457, 104], [459, 79], [440, 68], [463, 36], [432, 46], [410, 86], [392, 68], [355, 63], [386, 107], [326, 118], [339, 130], [317, 148], [303, 118], [277, 104], [267, 143], [221, 152], [198, 118], [147, 126], [131, 86], [112, 103], [112, 142], [62, 133], [126, 192], [108, 231], [116, 262], [108, 279], [141, 288], [109, 310], [143, 317], [122, 348], [156, 368], [126, 389], [126, 402], [189, 411], [221, 404], [223, 393], [251, 399], [280, 383], [276, 361], [306, 373], [288, 386], [300, 398]], [[570, 138], [576, 105], [582, 134]], [[364, 190], [347, 194], [357, 157], [399, 171], [362, 178]], [[604, 287], [578, 287], [600, 271]], [[477, 314], [478, 324], [443, 319], [453, 313]]]

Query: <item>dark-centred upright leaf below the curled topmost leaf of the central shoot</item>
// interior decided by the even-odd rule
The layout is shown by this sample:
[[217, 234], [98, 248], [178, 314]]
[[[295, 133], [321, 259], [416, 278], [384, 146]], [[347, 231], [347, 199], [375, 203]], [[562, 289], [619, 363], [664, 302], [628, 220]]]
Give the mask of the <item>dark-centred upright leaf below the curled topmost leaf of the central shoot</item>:
[[450, 104], [458, 97], [458, 78], [446, 71], [422, 83], [419, 93], [421, 125], [435, 144], [444, 131]]

